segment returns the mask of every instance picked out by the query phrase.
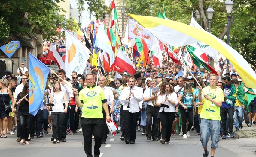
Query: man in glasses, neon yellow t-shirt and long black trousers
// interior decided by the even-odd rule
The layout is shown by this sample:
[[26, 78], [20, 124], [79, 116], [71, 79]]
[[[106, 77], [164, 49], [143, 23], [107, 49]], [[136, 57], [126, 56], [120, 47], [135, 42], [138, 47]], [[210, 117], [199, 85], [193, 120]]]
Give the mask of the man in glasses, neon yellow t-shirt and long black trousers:
[[83, 114], [81, 116], [81, 124], [84, 136], [84, 152], [86, 155], [92, 155], [92, 135], [94, 135], [94, 156], [98, 157], [100, 154], [99, 148], [102, 143], [103, 135], [103, 114], [102, 106], [106, 112], [106, 121], [110, 120], [110, 114], [107, 106], [107, 99], [103, 89], [95, 86], [95, 77], [93, 74], [87, 74], [85, 77], [87, 87], [79, 92], [73, 89], [75, 95], [75, 103], [78, 107], [83, 105]]

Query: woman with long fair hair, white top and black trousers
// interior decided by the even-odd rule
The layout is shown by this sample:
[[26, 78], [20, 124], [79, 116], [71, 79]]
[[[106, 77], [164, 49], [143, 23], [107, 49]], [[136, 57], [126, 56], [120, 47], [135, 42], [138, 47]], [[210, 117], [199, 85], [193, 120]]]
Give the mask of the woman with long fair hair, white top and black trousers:
[[[53, 143], [60, 143], [62, 123], [65, 117], [64, 113], [67, 112], [68, 101], [66, 95], [60, 88], [59, 81], [55, 81], [53, 84], [53, 91], [50, 94], [49, 102], [54, 104], [52, 108], [53, 111], [51, 112], [51, 118], [53, 122], [53, 138], [51, 138], [51, 141], [53, 141]], [[66, 106], [65, 108], [63, 104], [64, 102]], [[48, 106], [48, 110], [50, 110], [50, 106]]]

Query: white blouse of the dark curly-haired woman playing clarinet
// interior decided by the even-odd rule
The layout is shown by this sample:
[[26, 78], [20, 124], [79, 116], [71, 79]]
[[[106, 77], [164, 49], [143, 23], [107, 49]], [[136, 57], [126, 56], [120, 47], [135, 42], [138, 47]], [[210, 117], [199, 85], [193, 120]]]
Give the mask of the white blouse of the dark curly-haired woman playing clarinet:
[[[157, 104], [158, 103], [162, 103], [165, 99], [165, 95], [166, 94], [163, 94], [163, 95], [159, 95], [160, 92], [158, 92], [158, 99], [157, 99]], [[167, 100], [166, 100], [166, 105], [169, 105], [169, 108], [165, 107], [164, 108], [164, 111], [165, 112], [176, 112], [176, 105], [178, 104], [178, 98], [177, 98], [177, 94], [175, 92], [172, 92], [171, 94], [167, 95], [168, 99], [169, 100], [172, 100], [172, 101], [175, 101], [175, 105], [172, 105], [171, 103], [169, 103]], [[163, 107], [160, 107], [160, 110], [159, 112], [162, 112], [163, 110]]]

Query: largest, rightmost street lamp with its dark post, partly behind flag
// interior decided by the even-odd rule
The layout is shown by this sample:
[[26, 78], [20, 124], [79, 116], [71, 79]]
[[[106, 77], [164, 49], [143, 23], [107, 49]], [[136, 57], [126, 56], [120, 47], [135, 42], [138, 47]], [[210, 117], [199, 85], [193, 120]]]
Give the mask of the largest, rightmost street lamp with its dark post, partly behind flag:
[[[226, 0], [224, 4], [225, 4], [226, 13], [227, 13], [227, 45], [229, 45], [229, 29], [230, 29], [229, 24], [230, 24], [230, 17], [231, 17], [234, 2], [231, 0]], [[227, 73], [229, 72], [228, 64], [229, 64], [229, 60], [227, 59], [227, 69], [226, 69]]]

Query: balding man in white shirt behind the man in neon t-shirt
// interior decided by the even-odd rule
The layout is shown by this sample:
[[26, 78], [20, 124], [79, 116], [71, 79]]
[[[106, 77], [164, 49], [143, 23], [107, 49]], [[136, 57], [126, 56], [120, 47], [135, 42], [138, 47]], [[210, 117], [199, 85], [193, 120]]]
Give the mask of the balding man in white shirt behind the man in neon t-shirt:
[[[107, 99], [108, 110], [109, 110], [110, 114], [113, 114], [114, 113], [114, 100], [115, 100], [114, 94], [113, 94], [113, 91], [111, 88], [105, 86], [106, 81], [107, 81], [106, 77], [101, 76], [101, 77], [99, 77], [98, 84], [104, 91], [105, 97]], [[106, 144], [108, 126], [105, 123], [106, 112], [104, 110], [102, 110], [102, 113], [103, 113], [103, 121], [104, 121], [102, 144]]]

